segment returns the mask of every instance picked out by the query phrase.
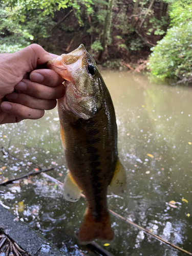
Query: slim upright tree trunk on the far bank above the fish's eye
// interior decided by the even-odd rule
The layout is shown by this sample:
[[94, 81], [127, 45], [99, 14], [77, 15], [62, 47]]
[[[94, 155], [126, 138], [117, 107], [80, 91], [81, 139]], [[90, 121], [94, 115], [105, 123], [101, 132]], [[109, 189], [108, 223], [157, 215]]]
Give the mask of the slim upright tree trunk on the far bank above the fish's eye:
[[106, 51], [106, 48], [108, 47], [108, 37], [110, 35], [110, 28], [111, 28], [111, 22], [112, 22], [113, 1], [114, 0], [108, 1], [108, 9], [107, 9], [106, 18], [105, 18], [105, 24], [103, 27], [103, 34], [100, 40], [101, 46], [103, 49], [99, 51], [98, 60], [102, 59], [103, 53]]

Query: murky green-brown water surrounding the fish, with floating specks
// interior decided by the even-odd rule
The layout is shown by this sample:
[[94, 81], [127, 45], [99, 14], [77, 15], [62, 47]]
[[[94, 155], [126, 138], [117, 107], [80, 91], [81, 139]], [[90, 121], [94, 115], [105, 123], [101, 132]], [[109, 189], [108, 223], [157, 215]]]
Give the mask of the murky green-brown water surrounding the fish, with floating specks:
[[[109, 196], [109, 207], [192, 252], [192, 89], [157, 85], [142, 75], [102, 74], [115, 106], [119, 156], [127, 174], [125, 193]], [[1, 125], [0, 140], [20, 159], [41, 167], [61, 166], [47, 174], [63, 181], [67, 166], [57, 117], [55, 109], [37, 121]], [[1, 159], [6, 160], [6, 156], [1, 155]], [[29, 170], [26, 166], [7, 166], [0, 178], [13, 178]], [[74, 246], [74, 232], [86, 208], [83, 199], [65, 201], [62, 189], [40, 175], [0, 190], [6, 192], [0, 194], [4, 206], [63, 251], [86, 251], [86, 247]], [[168, 205], [171, 200], [177, 202], [177, 208]], [[115, 238], [107, 249], [114, 255], [182, 255], [115, 217], [111, 220]]]

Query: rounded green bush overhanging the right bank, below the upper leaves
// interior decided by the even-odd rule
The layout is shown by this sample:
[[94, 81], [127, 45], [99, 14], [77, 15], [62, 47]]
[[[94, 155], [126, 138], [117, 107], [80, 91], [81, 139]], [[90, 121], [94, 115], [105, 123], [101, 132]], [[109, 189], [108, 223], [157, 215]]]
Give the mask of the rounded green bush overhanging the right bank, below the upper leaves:
[[192, 22], [170, 28], [154, 47], [149, 67], [159, 78], [191, 77], [192, 70]]

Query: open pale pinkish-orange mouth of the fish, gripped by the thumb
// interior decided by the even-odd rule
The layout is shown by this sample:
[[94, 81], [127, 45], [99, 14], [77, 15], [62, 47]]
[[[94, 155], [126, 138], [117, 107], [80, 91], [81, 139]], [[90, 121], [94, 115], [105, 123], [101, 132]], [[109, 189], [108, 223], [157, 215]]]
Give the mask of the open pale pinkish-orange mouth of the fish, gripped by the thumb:
[[81, 44], [76, 50], [68, 54], [62, 54], [47, 62], [47, 67], [54, 70], [63, 79], [72, 81], [71, 73], [83, 67], [83, 57], [86, 55], [86, 49]]

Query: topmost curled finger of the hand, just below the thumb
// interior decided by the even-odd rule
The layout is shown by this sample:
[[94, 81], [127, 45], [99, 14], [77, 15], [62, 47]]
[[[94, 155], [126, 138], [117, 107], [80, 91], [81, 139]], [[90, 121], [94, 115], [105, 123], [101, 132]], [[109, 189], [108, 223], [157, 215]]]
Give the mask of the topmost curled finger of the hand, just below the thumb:
[[30, 74], [30, 80], [45, 84], [45, 86], [56, 87], [61, 84], [64, 79], [51, 69], [38, 69], [34, 70]]

